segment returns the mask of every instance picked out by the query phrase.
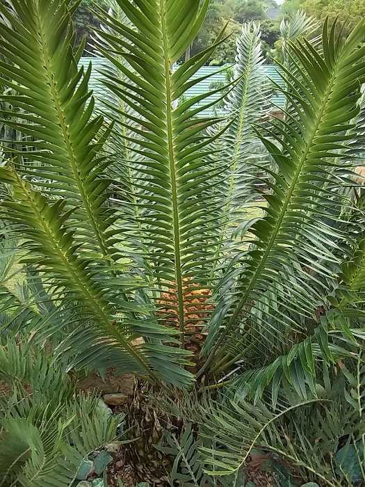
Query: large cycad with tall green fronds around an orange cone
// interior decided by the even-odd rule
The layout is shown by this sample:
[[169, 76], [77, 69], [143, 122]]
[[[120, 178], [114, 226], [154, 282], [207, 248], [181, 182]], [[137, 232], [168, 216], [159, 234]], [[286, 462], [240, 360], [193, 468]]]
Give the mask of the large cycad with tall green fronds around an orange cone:
[[[364, 234], [356, 225], [364, 214], [342, 190], [355, 184], [362, 150], [353, 142], [362, 138], [365, 23], [348, 38], [325, 23], [319, 44], [287, 40], [284, 120], [265, 117], [261, 127], [249, 76], [261, 62], [257, 27], [246, 29], [254, 58], [242, 47], [225, 120], [199, 116], [212, 92], [178, 102], [225, 42], [223, 31], [175, 65], [209, 0], [95, 6], [103, 116], [95, 115], [90, 66], [78, 67], [83, 46], [74, 49], [78, 3], [0, 6], [0, 72], [12, 90], [1, 99], [17, 120], [7, 109], [2, 117], [25, 147], [20, 161], [9, 154], [0, 168], [1, 220], [37, 284], [23, 333], [34, 327], [34, 350], [48, 346], [65, 372], [136, 374], [155, 407], [179, 417], [158, 441], [159, 454], [176, 455], [171, 485], [218, 485], [222, 476], [238, 486], [254, 445], [287, 456], [303, 478], [350, 483], [339, 452], [347, 445], [362, 461]], [[259, 156], [247, 154], [256, 145]], [[242, 215], [235, 222], [230, 212], [245, 211], [248, 187], [260, 213], [232, 238]], [[8, 299], [4, 291], [4, 311], [15, 306]], [[36, 304], [48, 311], [29, 321]], [[15, 321], [22, 334], [17, 312], [3, 328]], [[138, 394], [133, 405], [145, 407]], [[300, 414], [325, 432], [319, 462], [310, 452], [315, 429]]]

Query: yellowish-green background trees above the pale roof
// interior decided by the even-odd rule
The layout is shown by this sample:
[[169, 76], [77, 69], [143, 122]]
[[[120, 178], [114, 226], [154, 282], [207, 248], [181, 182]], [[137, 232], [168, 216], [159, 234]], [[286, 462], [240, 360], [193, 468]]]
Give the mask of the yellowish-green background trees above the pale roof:
[[[104, 7], [108, 3], [107, 0], [96, 1]], [[99, 21], [92, 13], [92, 3], [92, 0], [82, 0], [74, 13], [77, 40], [81, 42], [83, 36], [87, 40], [84, 55], [88, 55], [92, 50], [92, 29], [99, 27]], [[211, 0], [206, 19], [191, 46], [190, 54], [197, 54], [209, 47], [228, 22], [226, 33], [231, 37], [218, 47], [208, 63], [217, 65], [233, 63], [236, 38], [241, 33], [241, 25], [251, 20], [258, 20], [261, 24], [263, 50], [269, 61], [270, 52], [279, 39], [279, 22], [282, 15], [293, 17], [298, 9], [302, 9], [321, 23], [325, 17], [329, 17], [330, 23], [338, 18], [339, 23], [345, 27], [345, 34], [365, 16], [365, 0], [285, 0], [282, 5], [282, 15], [277, 19], [268, 19], [266, 9], [272, 6], [277, 6], [274, 0]]]

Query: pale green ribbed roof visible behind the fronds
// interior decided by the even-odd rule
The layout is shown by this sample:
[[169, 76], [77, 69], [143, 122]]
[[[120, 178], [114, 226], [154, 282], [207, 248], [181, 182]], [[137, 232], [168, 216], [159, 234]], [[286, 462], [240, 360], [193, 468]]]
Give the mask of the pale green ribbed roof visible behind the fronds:
[[[90, 76], [90, 89], [93, 91], [93, 94], [96, 98], [96, 106], [98, 107], [98, 98], [105, 97], [105, 95], [108, 95], [113, 99], [113, 94], [107, 90], [101, 81], [101, 74], [99, 74], [98, 70], [103, 70], [103, 67], [106, 65], [106, 60], [103, 58], [81, 58], [80, 64], [84, 65], [85, 67], [88, 67], [89, 63], [92, 63], [92, 72]], [[227, 66], [228, 67], [228, 66]], [[274, 65], [262, 65], [261, 69], [263, 70], [265, 76], [268, 79], [272, 79], [279, 85], [282, 85], [282, 78], [279, 76], [277, 72], [277, 67]], [[213, 74], [215, 73], [215, 74]], [[193, 78], [200, 78], [204, 77], [207, 74], [212, 74], [211, 77], [208, 79], [204, 79], [203, 81], [200, 81], [197, 83], [195, 86], [190, 88], [189, 90], [186, 91], [185, 96], [190, 98], [195, 95], [202, 95], [202, 93], [207, 93], [211, 88], [210, 85], [213, 82], [220, 81], [222, 83], [227, 83], [227, 79], [225, 77], [225, 72], [222, 71], [221, 66], [203, 66], [198, 70]], [[218, 100], [220, 97], [219, 93], [216, 93], [216, 95], [211, 95], [204, 99], [202, 102], [203, 104], [209, 104], [211, 102], [214, 102]], [[273, 93], [271, 95], [271, 100], [270, 100], [275, 106], [279, 107], [279, 109], [282, 109], [284, 107], [284, 95], [279, 92], [278, 90], [273, 89]], [[200, 112], [200, 116], [209, 116], [212, 115], [213, 113], [213, 106], [209, 109], [206, 109], [202, 112]], [[224, 111], [220, 111], [220, 113], [224, 113]]]

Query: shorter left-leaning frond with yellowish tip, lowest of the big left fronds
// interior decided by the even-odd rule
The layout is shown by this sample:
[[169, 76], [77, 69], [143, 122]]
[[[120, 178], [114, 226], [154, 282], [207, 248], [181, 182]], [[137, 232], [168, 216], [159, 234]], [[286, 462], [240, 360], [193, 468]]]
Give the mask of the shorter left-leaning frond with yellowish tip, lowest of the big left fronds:
[[[133, 314], [142, 311], [140, 306], [124, 301], [115, 294], [115, 287], [120, 285], [120, 280], [117, 280], [113, 290], [113, 280], [106, 278], [105, 275], [108, 266], [104, 266], [103, 274], [103, 267], [95, 264], [94, 260], [75, 255], [78, 244], [74, 240], [74, 232], [65, 225], [70, 213], [64, 211], [66, 201], [60, 199], [47, 201], [44, 195], [31, 189], [29, 184], [26, 184], [12, 169], [0, 168], [0, 180], [13, 186], [13, 198], [3, 202], [3, 209], [8, 210], [4, 216], [22, 225], [24, 237], [28, 237], [26, 248], [31, 250], [32, 255], [26, 257], [26, 260], [36, 263], [38, 268], [40, 266], [47, 268], [47, 276], [53, 275], [57, 279], [57, 292], [61, 295], [66, 293], [67, 301], [73, 300], [79, 303], [77, 306], [79, 326], [82, 322], [86, 325], [92, 321], [96, 327], [96, 335], [90, 331], [86, 341], [74, 340], [74, 353], [79, 351], [77, 362], [84, 367], [87, 367], [90, 362], [95, 366], [98, 362], [95, 351], [105, 351], [109, 347], [110, 351], [117, 349], [117, 357], [113, 355], [113, 358], [117, 360], [116, 365], [121, 369], [149, 374], [152, 378], [156, 378], [153, 372], [156, 367], [159, 373], [168, 374], [172, 381], [175, 382], [176, 379], [179, 385], [186, 380], [189, 381], [188, 372], [182, 369], [180, 371], [177, 367], [171, 367], [169, 370], [168, 363], [172, 359], [166, 353], [159, 354], [154, 349], [149, 352], [147, 343], [141, 346], [133, 344], [133, 340], [141, 334], [149, 335], [149, 323], [136, 320], [134, 324], [126, 323], [123, 317], [117, 314], [117, 310], [122, 309], [124, 312]], [[111, 323], [113, 320], [115, 320], [114, 325]], [[77, 332], [76, 328], [76, 334]], [[161, 337], [161, 340], [170, 338], [163, 334], [161, 328], [156, 328], [155, 333]], [[100, 353], [100, 360], [104, 360], [104, 356], [110, 358], [110, 353], [106, 355]], [[177, 358], [179, 352], [174, 350], [174, 355]], [[162, 360], [159, 360], [160, 358]]]

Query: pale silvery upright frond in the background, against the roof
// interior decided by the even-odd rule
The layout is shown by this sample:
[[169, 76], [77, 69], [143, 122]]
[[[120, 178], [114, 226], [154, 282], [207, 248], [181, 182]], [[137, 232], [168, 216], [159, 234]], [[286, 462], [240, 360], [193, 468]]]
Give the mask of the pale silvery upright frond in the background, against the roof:
[[232, 124], [224, 134], [227, 149], [223, 154], [225, 159], [232, 161], [227, 171], [227, 214], [231, 222], [239, 224], [243, 202], [249, 196], [254, 198], [259, 166], [264, 167], [268, 158], [254, 134], [253, 125], [268, 115], [269, 86], [262, 69], [260, 25], [254, 22], [243, 24], [236, 44], [234, 78], [239, 81], [227, 95], [227, 115], [232, 118]]

